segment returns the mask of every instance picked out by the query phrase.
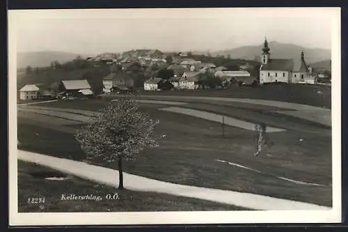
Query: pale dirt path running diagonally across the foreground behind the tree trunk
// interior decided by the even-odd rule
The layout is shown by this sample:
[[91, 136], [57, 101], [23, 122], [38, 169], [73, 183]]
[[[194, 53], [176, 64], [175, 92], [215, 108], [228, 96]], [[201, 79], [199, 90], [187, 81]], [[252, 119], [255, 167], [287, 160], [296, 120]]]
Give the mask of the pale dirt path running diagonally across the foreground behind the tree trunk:
[[[63, 171], [80, 178], [95, 181], [97, 183], [118, 186], [118, 171], [98, 167], [84, 162], [61, 159], [38, 153], [18, 150], [17, 159], [33, 162], [58, 171]], [[135, 176], [123, 173], [125, 188], [141, 192], [158, 192], [172, 194], [175, 196], [187, 196], [195, 199], [204, 199], [226, 203], [234, 206], [242, 206], [254, 210], [331, 210], [324, 206], [311, 203], [276, 199], [270, 196], [233, 192], [227, 190], [216, 190], [205, 187], [194, 187], [189, 185], [178, 185], [164, 181]]]

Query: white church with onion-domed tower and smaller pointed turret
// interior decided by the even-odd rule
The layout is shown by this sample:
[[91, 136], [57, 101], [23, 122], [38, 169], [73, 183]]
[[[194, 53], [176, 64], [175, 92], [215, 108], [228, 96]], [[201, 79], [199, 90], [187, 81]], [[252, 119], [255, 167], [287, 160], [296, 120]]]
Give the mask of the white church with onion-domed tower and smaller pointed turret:
[[294, 71], [292, 59], [271, 59], [269, 51], [268, 42], [265, 39], [261, 56], [260, 84], [276, 82], [316, 83], [316, 79], [312, 77], [312, 69], [306, 65], [303, 51], [301, 52], [301, 66], [296, 71]]

